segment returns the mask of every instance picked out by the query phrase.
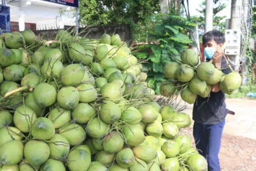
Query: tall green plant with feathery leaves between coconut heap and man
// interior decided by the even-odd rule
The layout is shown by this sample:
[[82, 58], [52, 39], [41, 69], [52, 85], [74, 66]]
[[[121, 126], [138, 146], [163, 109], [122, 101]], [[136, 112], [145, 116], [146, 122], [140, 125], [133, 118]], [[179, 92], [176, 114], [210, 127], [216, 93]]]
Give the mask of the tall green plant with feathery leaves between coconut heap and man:
[[154, 43], [137, 46], [135, 55], [145, 60], [148, 86], [159, 94], [161, 82], [166, 80], [164, 66], [169, 61], [179, 60], [180, 52], [193, 44], [189, 33], [196, 23], [173, 14], [159, 14], [154, 18], [154, 28], [148, 30], [148, 38]]

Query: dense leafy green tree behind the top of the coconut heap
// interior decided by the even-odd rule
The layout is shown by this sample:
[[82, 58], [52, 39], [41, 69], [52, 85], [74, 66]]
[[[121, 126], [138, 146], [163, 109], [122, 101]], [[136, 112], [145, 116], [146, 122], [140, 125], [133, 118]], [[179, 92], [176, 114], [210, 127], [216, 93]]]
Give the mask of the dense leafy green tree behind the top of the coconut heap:
[[[159, 0], [79, 0], [79, 23], [84, 26], [130, 24], [133, 39], [143, 37], [147, 17], [160, 11]], [[140, 36], [138, 36], [140, 35]]]

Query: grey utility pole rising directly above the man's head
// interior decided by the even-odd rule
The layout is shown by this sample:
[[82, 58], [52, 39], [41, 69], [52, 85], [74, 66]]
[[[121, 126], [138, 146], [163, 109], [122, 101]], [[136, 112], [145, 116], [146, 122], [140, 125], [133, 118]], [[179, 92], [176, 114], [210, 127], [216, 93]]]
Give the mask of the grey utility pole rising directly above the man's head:
[[205, 33], [212, 30], [212, 20], [213, 20], [213, 0], [206, 0], [205, 8]]

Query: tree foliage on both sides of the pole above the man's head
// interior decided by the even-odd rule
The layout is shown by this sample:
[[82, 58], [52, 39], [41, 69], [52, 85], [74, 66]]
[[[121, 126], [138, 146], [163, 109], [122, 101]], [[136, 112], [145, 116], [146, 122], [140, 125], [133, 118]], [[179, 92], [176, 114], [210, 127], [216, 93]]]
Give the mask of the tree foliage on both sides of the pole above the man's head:
[[[219, 12], [221, 12], [223, 9], [225, 9], [227, 7], [226, 4], [221, 3], [218, 0], [214, 1], [215, 6], [213, 8], [213, 26], [219, 26], [220, 31], [223, 31], [225, 29], [225, 22], [223, 22], [222, 20], [226, 17], [226, 16], [217, 16], [217, 14]], [[192, 16], [191, 20], [195, 21], [196, 23], [198, 23], [198, 28], [199, 29], [204, 29], [204, 25], [205, 25], [205, 9], [206, 9], [206, 1], [204, 0], [201, 4], [200, 4], [200, 9], [197, 9], [198, 12], [200, 12], [202, 15], [201, 16]]]

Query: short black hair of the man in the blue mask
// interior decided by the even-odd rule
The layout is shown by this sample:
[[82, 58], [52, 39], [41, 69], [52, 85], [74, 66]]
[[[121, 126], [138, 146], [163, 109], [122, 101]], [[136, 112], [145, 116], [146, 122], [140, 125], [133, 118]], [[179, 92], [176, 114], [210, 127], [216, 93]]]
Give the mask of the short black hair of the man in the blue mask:
[[219, 43], [224, 43], [226, 40], [225, 40], [225, 35], [218, 31], [218, 30], [211, 30], [207, 33], [205, 33], [203, 35], [203, 45], [205, 45], [208, 41], [210, 40], [214, 40], [217, 44]]

